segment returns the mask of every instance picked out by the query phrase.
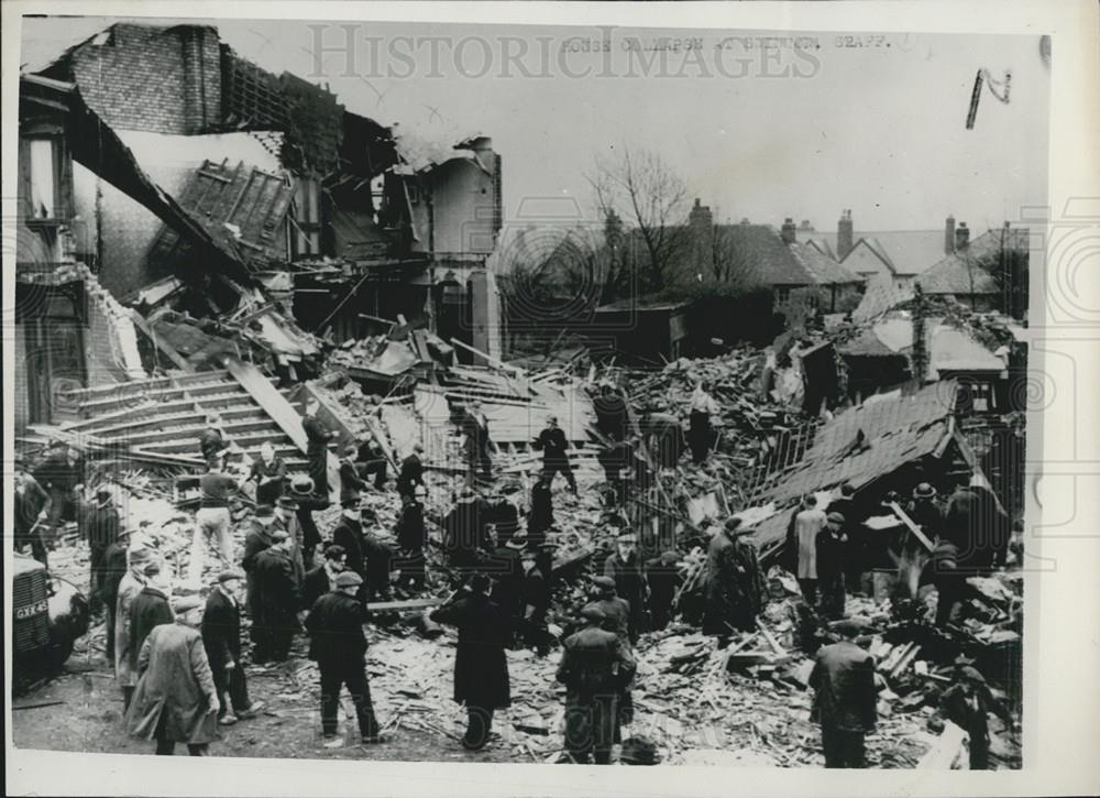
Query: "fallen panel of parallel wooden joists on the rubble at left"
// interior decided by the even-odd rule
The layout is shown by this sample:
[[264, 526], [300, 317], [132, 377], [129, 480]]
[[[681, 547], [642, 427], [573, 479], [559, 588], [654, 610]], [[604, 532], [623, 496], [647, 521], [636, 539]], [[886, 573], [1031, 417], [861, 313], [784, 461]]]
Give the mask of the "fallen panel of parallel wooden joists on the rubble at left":
[[[256, 385], [284, 403], [264, 400]], [[285, 403], [287, 393], [246, 364], [85, 389], [67, 397], [80, 420], [66, 425], [65, 431], [120, 442], [132, 452], [167, 456], [201, 469], [199, 437], [207, 428], [207, 416], [218, 413], [228, 441], [258, 457], [260, 446], [270, 440], [289, 471], [305, 471], [306, 457], [296, 440], [299, 436], [285, 429], [295, 423], [286, 413], [294, 413]]]

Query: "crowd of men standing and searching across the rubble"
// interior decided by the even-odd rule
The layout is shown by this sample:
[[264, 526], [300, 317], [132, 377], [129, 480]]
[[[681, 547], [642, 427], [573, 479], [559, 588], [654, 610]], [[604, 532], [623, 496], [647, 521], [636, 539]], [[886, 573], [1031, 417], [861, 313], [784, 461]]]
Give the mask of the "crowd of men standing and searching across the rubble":
[[[79, 457], [63, 444], [35, 469], [19, 471], [16, 544], [29, 545], [45, 562], [51, 545], [45, 531], [78, 521], [90, 550], [94, 608], [105, 614], [107, 655], [122, 690], [128, 729], [155, 741], [157, 754], [184, 743], [193, 755], [207, 753], [217, 725], [249, 720], [261, 708], [249, 697], [242, 615], [250, 620], [252, 664], [286, 660], [296, 635], [308, 635], [308, 656], [320, 670], [326, 739], [337, 734], [338, 699], [346, 689], [362, 742], [381, 742], [363, 626], [372, 605], [436, 581], [429, 577], [428, 554], [437, 546], [439, 557], [431, 558], [437, 577], [449, 578], [454, 590], [429, 617], [458, 630], [454, 700], [468, 713], [462, 744], [484, 747], [494, 712], [510, 703], [505, 652], [519, 646], [546, 656], [553, 645], [548, 622], [554, 546], [548, 533], [556, 528], [556, 477], [563, 475], [569, 490], [578, 491], [564, 431], [551, 416], [532, 441], [543, 460], [534, 474], [529, 509], [521, 513], [510, 500], [475, 490], [492, 481], [495, 446], [484, 412], [473, 404], [460, 424], [468, 482], [453, 507], [442, 518], [430, 516], [418, 445], [397, 464], [402, 507], [389, 531], [382, 528], [372, 499], [387, 490], [386, 453], [374, 438], [345, 446], [336, 487], [341, 514], [322, 534], [314, 513], [329, 505], [328, 453], [337, 435], [318, 416], [316, 401], [305, 409], [308, 474], [290, 474], [270, 444], [255, 459], [228, 468], [227, 458], [241, 452], [227, 440], [220, 418], [209, 418], [199, 440], [208, 467], [199, 479], [188, 590], [182, 597], [172, 598], [172, 575], [156, 548], [120, 518], [113, 490], [102, 482], [85, 496]], [[564, 761], [609, 763], [612, 747], [623, 742], [631, 722], [635, 646], [640, 634], [669, 623], [683, 555], [652, 537], [639, 539], [628, 505], [653, 484], [654, 474], [675, 464], [685, 440], [693, 461], [706, 460], [717, 438], [712, 426], [717, 409], [701, 383], [691, 398], [686, 437], [674, 419], [660, 414], [644, 416], [641, 434], [634, 435], [623, 396], [605, 385], [597, 397], [598, 426], [606, 435], [601, 462], [609, 485], [603, 522], [610, 545], [597, 553], [591, 600], [561, 640], [557, 678], [566, 690]], [[254, 510], [238, 551], [231, 506], [245, 489]], [[1009, 527], [980, 479], [960, 487], [946, 505], [936, 499], [931, 484], [916, 485], [908, 516], [935, 542], [924, 578], [938, 588], [936, 622], [945, 624], [964, 597], [966, 576], [1004, 562]], [[864, 735], [876, 723], [873, 659], [856, 643], [859, 625], [845, 617], [847, 593], [860, 589], [868, 557], [856, 523], [867, 517], [866, 510], [857, 506], [851, 485], [844, 485], [824, 510], [815, 496], [806, 496], [789, 528], [790, 565], [805, 605], [833, 621], [832, 632], [840, 638], [816, 651], [810, 677], [828, 767], [865, 766]], [[427, 532], [429, 523], [441, 531], [438, 542]], [[769, 591], [748, 539], [752, 528], [739, 517], [704, 526], [698, 616], [703, 632], [726, 645], [733, 635], [756, 630]], [[975, 529], [982, 531], [981, 539]], [[211, 572], [208, 547], [219, 562], [216, 577], [204, 583], [202, 573]], [[205, 601], [196, 598], [201, 591], [208, 591]], [[979, 742], [971, 764], [986, 767], [985, 709], [1001, 708], [990, 701], [980, 674], [961, 676], [948, 714], [972, 729]]]

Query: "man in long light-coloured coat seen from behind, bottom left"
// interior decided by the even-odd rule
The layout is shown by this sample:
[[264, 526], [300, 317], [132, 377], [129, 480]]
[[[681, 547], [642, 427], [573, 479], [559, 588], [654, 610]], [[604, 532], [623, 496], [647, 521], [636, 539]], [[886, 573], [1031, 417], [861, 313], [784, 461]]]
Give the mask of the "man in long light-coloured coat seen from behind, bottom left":
[[191, 756], [207, 756], [221, 702], [196, 628], [202, 602], [186, 597], [175, 609], [175, 623], [153, 628], [138, 656], [141, 679], [127, 712], [127, 730], [139, 740], [155, 740], [158, 755], [170, 756], [176, 743], [185, 743]]

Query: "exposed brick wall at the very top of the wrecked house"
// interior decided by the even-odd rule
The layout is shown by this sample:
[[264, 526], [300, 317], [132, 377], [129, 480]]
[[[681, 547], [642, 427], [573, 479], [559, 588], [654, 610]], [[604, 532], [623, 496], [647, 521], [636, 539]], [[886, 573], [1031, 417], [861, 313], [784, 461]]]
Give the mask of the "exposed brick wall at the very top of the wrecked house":
[[221, 53], [212, 28], [118, 24], [73, 54], [88, 105], [118, 130], [195, 134], [221, 121]]

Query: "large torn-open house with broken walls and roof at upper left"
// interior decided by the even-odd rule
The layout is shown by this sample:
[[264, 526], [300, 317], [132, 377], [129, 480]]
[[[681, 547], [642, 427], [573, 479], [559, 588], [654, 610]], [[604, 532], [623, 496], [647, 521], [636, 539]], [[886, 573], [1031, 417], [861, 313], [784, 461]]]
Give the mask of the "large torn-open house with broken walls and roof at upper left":
[[319, 351], [305, 330], [381, 317], [498, 348], [487, 136], [425, 154], [208, 25], [111, 25], [20, 89], [16, 428], [250, 337], [292, 374]]

